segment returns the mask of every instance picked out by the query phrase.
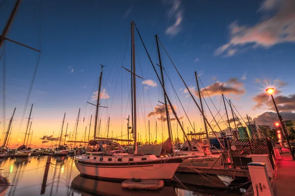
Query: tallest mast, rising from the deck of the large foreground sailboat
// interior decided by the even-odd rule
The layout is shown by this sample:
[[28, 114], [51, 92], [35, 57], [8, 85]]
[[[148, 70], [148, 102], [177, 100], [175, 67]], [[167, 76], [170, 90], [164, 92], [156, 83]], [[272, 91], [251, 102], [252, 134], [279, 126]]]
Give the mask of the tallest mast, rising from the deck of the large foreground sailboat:
[[134, 136], [134, 154], [137, 154], [137, 130], [136, 130], [136, 72], [135, 72], [135, 41], [134, 41], [134, 22], [131, 22], [131, 47], [132, 47], [132, 68], [133, 72], [133, 136]]

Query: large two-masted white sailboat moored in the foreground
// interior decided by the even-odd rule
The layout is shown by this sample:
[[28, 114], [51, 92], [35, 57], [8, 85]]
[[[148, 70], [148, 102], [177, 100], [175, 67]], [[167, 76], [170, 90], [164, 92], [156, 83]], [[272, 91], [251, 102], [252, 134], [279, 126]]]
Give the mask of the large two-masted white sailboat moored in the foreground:
[[[102, 70], [99, 79], [97, 105], [95, 113], [94, 140], [90, 140], [90, 146], [94, 149], [88, 150], [85, 154], [75, 156], [75, 165], [78, 171], [86, 176], [109, 179], [164, 179], [171, 180], [179, 164], [190, 156], [153, 155], [139, 154], [137, 148], [136, 129], [136, 73], [135, 73], [135, 42], [134, 22], [131, 23], [131, 46], [132, 46], [132, 116], [134, 133], [134, 153], [126, 153], [112, 138], [97, 138], [96, 124], [99, 107], [100, 87]], [[102, 69], [102, 68], [101, 68]], [[97, 140], [96, 140], [97, 139]], [[169, 138], [168, 138], [169, 139]], [[118, 139], [117, 139], [118, 141]], [[118, 150], [112, 150], [118, 148]]]

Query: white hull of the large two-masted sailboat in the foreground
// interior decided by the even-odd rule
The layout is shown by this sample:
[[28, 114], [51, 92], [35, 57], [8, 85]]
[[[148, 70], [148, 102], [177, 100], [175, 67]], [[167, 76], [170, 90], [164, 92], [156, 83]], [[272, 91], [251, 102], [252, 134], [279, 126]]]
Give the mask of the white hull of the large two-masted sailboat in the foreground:
[[[82, 155], [83, 156], [83, 155]], [[148, 160], [144, 162], [117, 162], [118, 165], [107, 164], [106, 162], [93, 162], [83, 158], [82, 156], [75, 157], [75, 165], [78, 171], [84, 175], [98, 177], [98, 178], [112, 178], [112, 179], [165, 179], [170, 180], [173, 178], [182, 158], [179, 157], [163, 157]], [[148, 155], [153, 156], [153, 155]], [[105, 157], [105, 156], [104, 156]], [[112, 156], [111, 156], [112, 157]], [[114, 158], [114, 156], [113, 156]], [[128, 157], [129, 158], [129, 157]]]

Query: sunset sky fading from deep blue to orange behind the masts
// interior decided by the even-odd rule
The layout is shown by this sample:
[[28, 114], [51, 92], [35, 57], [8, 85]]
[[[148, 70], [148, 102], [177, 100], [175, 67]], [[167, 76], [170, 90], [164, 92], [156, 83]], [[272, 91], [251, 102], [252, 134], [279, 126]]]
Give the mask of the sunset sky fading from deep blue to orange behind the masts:
[[[0, 29], [3, 29], [13, 4], [14, 1], [11, 0], [0, 8]], [[288, 5], [291, 11], [294, 10], [292, 0], [283, 3], [279, 0], [51, 0], [42, 1], [41, 4], [37, 0], [24, 0], [7, 37], [37, 49], [41, 40], [41, 60], [28, 104], [30, 106], [34, 103], [33, 124], [38, 129], [36, 141], [44, 132], [50, 135], [53, 129], [59, 131], [64, 112], [67, 112], [71, 130], [79, 108], [84, 108], [82, 118], [89, 119], [90, 106], [85, 111], [86, 101], [93, 101], [91, 95], [97, 89], [95, 84], [99, 77], [100, 63], [107, 65], [103, 81], [110, 96], [108, 105], [113, 100], [112, 108], [122, 107], [120, 95], [123, 85], [119, 82], [115, 93], [115, 84], [111, 84], [111, 81], [117, 82], [118, 78], [124, 77], [124, 85], [127, 84], [126, 73], [120, 67], [130, 67], [129, 28], [132, 20], [139, 28], [153, 60], [156, 60], [154, 35], [158, 34], [189, 86], [195, 85], [192, 83], [194, 71], [202, 73], [200, 77], [205, 86], [237, 78], [239, 83], [233, 88], [240, 88], [243, 93], [224, 93], [233, 99], [243, 115], [249, 114], [254, 118], [266, 111], [273, 111], [267, 104], [253, 110], [257, 104], [253, 98], [263, 92], [265, 83], [273, 84], [273, 80], [277, 79], [277, 86], [279, 80], [287, 84], [280, 86], [281, 96], [294, 94], [295, 38], [291, 31], [295, 19], [291, 18], [284, 27], [276, 26], [276, 23], [280, 24], [281, 18], [287, 18], [290, 11], [286, 8]], [[286, 16], [280, 18], [281, 13], [286, 13]], [[270, 20], [274, 21], [271, 23], [274, 27], [269, 25]], [[270, 35], [264, 34], [266, 32]], [[144, 79], [158, 83], [138, 37], [136, 40]], [[225, 45], [224, 49], [220, 49]], [[124, 47], [127, 47], [126, 51]], [[124, 54], [125, 58], [122, 57]], [[162, 55], [164, 56], [164, 51]], [[20, 133], [24, 132], [24, 126], [20, 128], [19, 124], [37, 57], [35, 51], [6, 42], [6, 119], [11, 115], [13, 107], [17, 107], [15, 126], [18, 128], [15, 135], [19, 137], [23, 137]], [[189, 103], [192, 104], [191, 100], [186, 98], [187, 94], [183, 90], [179, 90], [184, 86], [169, 64], [168, 57], [163, 58], [166, 63], [164, 66], [171, 70], [169, 73], [175, 78], [177, 93], [187, 108]], [[2, 66], [1, 62], [1, 68]], [[112, 68], [116, 72], [112, 70], [111, 73]], [[140, 92], [148, 91], [152, 97], [151, 103], [145, 100], [147, 108], [143, 116], [147, 116], [152, 107], [158, 104], [159, 85], [148, 86], [148, 89], [143, 86], [139, 88], [142, 88]], [[173, 96], [172, 89], [169, 92]], [[123, 96], [123, 102], [128, 102], [125, 91]], [[220, 96], [212, 97], [218, 105]], [[106, 100], [102, 101], [105, 103]], [[125, 111], [110, 110], [113, 116], [111, 119], [121, 124], [121, 113]], [[26, 117], [28, 111], [29, 108]], [[191, 118], [196, 118], [196, 111], [196, 108], [188, 111]], [[1, 122], [2, 119], [3, 117]], [[202, 126], [201, 121], [199, 126]], [[83, 134], [82, 130], [83, 127], [80, 135]], [[114, 131], [120, 134], [120, 130]]]

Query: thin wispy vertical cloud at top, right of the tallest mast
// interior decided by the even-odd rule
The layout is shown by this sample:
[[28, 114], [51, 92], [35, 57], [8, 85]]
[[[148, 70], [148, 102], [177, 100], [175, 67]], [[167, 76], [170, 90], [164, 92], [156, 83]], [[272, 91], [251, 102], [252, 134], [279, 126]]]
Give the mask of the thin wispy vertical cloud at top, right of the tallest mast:
[[183, 19], [182, 16], [182, 10], [180, 10], [180, 0], [166, 0], [168, 4], [172, 4], [171, 8], [168, 11], [168, 16], [175, 18], [175, 23], [173, 25], [170, 25], [168, 28], [166, 28], [165, 33], [170, 36], [175, 36], [177, 33], [181, 30], [181, 22]]

